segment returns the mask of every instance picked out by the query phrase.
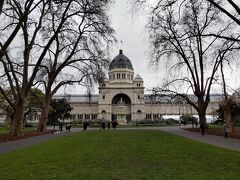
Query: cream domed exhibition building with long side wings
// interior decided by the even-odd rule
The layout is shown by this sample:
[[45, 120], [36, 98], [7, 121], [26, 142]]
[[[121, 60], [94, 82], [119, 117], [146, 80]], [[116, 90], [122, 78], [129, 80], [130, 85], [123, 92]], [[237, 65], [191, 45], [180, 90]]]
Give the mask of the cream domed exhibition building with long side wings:
[[[99, 85], [99, 94], [56, 95], [71, 104], [72, 120], [117, 120], [119, 124], [140, 120], [160, 119], [163, 115], [197, 114], [184, 101], [172, 102], [166, 98], [144, 94], [144, 80], [134, 73], [134, 67], [120, 50], [111, 61], [108, 78]], [[220, 95], [211, 95], [207, 114], [218, 109]]]

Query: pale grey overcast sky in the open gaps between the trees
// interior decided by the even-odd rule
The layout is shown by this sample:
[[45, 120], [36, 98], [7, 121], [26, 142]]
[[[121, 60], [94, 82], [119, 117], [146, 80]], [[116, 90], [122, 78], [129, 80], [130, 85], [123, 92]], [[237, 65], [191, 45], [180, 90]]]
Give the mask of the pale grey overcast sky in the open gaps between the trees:
[[[166, 77], [166, 68], [164, 64], [160, 64], [158, 68], [149, 66], [149, 41], [147, 31], [145, 28], [147, 22], [147, 14], [141, 12], [135, 17], [132, 17], [130, 13], [129, 0], [116, 0], [115, 4], [111, 7], [111, 19], [113, 28], [116, 31], [116, 38], [119, 43], [115, 44], [111, 51], [111, 59], [118, 55], [119, 49], [123, 50], [123, 54], [126, 55], [132, 62], [135, 76], [139, 74], [145, 85], [145, 93], [152, 87], [160, 86]], [[122, 41], [122, 43], [121, 43]], [[239, 70], [233, 74], [229, 72], [230, 76], [227, 76], [227, 81], [232, 88], [240, 87], [239, 83]], [[228, 73], [227, 73], [228, 74]], [[82, 87], [69, 87], [59, 93], [67, 94], [83, 94], [86, 93], [86, 89]], [[98, 94], [97, 87], [93, 90], [94, 94]], [[221, 93], [219, 88], [212, 91], [212, 93]]]

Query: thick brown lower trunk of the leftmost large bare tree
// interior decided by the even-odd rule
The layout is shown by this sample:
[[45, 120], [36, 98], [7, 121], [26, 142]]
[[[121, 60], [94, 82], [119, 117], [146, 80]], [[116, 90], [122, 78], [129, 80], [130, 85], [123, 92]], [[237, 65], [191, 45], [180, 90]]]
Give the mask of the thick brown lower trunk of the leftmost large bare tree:
[[22, 136], [23, 132], [23, 120], [25, 112], [26, 100], [19, 98], [16, 103], [16, 109], [13, 115], [13, 121], [11, 126], [11, 135]]

